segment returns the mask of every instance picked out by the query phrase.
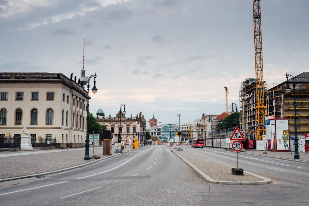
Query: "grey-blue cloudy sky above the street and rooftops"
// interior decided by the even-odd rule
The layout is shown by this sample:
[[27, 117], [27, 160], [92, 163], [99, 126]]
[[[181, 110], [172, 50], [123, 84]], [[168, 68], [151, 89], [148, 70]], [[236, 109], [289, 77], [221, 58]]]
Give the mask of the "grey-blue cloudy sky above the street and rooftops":
[[[309, 1], [261, 1], [264, 80], [308, 71]], [[90, 112], [193, 122], [255, 78], [252, 0], [0, 0], [0, 71], [97, 74]], [[93, 84], [93, 82], [91, 82]]]

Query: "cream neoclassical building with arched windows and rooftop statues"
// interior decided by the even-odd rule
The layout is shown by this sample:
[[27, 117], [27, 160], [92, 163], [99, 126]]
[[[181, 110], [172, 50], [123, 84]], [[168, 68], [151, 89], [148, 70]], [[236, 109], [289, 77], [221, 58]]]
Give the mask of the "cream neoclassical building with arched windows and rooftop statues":
[[20, 137], [24, 125], [36, 139], [85, 143], [87, 91], [63, 74], [0, 72], [0, 137]]

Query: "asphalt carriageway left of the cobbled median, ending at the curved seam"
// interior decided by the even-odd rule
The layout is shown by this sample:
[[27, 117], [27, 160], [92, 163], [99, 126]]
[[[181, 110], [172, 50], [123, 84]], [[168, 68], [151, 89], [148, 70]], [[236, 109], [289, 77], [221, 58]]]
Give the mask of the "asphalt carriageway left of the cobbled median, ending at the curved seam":
[[0, 187], [1, 205], [203, 205], [210, 196], [209, 184], [164, 145]]

